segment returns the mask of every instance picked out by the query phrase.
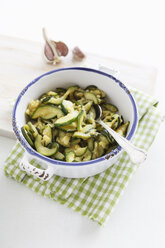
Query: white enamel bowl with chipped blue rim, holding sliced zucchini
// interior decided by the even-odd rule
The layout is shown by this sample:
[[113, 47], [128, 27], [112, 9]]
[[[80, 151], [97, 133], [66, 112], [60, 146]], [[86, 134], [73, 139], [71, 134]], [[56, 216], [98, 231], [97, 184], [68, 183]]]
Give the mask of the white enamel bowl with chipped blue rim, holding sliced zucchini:
[[[25, 110], [29, 102], [56, 87], [67, 88], [75, 84], [82, 88], [94, 84], [105, 91], [109, 101], [118, 107], [124, 120], [130, 121], [127, 139], [131, 140], [135, 134], [138, 123], [136, 103], [125, 85], [115, 77], [102, 71], [81, 67], [62, 68], [41, 75], [29, 83], [18, 96], [13, 110], [13, 130], [25, 149], [25, 155], [20, 163], [21, 169], [42, 180], [48, 180], [54, 174], [70, 178], [96, 175], [112, 166], [122, 153], [122, 148], [119, 146], [108, 155], [95, 160], [68, 163], [45, 157], [27, 143], [21, 127], [25, 124]], [[35, 168], [29, 163], [34, 158], [45, 168], [44, 170]]]

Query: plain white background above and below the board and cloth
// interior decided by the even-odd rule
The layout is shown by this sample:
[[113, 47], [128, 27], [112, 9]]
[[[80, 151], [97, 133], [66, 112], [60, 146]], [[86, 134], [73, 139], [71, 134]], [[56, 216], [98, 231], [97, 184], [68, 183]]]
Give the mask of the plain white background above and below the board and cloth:
[[[69, 47], [158, 68], [165, 106], [164, 1], [0, 0], [0, 34], [42, 41], [42, 27]], [[164, 126], [106, 227], [43, 199], [0, 169], [0, 247], [165, 247]], [[1, 165], [13, 140], [0, 137]]]

